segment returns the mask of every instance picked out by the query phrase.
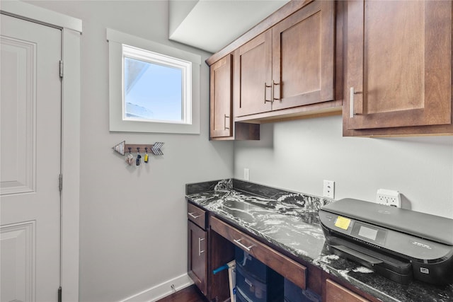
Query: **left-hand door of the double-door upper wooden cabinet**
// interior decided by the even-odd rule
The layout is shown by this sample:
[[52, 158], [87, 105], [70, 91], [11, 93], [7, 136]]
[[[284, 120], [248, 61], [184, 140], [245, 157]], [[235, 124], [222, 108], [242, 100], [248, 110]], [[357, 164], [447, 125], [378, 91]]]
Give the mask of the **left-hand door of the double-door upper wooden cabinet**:
[[272, 109], [272, 31], [267, 30], [234, 52], [234, 116]]

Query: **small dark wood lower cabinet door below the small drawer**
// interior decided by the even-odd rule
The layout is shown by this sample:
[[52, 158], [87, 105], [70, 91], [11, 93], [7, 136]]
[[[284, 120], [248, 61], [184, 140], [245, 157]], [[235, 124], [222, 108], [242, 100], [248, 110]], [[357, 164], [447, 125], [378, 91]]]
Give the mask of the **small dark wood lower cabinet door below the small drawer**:
[[206, 232], [188, 221], [188, 271], [200, 291], [207, 295]]

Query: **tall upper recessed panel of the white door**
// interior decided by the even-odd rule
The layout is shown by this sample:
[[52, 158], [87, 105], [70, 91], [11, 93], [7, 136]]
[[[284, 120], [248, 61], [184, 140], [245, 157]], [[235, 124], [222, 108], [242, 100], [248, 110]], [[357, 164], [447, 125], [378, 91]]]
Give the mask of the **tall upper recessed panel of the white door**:
[[[35, 190], [34, 43], [1, 37], [1, 194]], [[27, 76], [28, 75], [28, 76]]]

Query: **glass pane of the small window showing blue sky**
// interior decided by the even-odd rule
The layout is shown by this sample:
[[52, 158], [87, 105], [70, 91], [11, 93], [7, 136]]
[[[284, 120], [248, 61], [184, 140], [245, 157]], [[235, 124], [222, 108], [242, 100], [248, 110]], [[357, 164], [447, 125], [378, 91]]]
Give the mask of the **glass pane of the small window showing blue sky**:
[[183, 70], [125, 57], [126, 120], [183, 120]]

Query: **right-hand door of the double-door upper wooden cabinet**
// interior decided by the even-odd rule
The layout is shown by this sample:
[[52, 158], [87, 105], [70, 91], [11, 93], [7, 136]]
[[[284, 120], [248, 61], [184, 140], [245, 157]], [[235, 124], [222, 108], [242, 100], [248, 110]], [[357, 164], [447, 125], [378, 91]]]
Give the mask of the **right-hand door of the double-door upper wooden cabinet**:
[[314, 1], [273, 27], [273, 110], [333, 100], [335, 1]]

